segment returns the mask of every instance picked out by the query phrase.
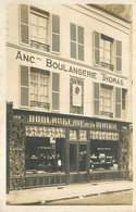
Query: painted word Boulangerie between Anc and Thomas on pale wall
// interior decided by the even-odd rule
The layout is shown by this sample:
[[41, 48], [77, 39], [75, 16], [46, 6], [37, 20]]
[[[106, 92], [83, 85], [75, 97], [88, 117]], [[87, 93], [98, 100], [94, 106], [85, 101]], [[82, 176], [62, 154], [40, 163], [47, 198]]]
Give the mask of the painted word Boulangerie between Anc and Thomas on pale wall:
[[53, 67], [55, 70], [69, 72], [69, 73], [72, 73], [72, 74], [77, 74], [77, 75], [81, 75], [81, 76], [91, 77], [91, 78], [95, 78], [95, 79], [97, 78], [97, 73], [95, 73], [95, 72], [78, 68], [78, 67], [75, 67], [75, 66], [72, 66], [72, 65], [66, 66], [63, 63], [53, 62], [51, 59], [47, 59], [47, 64], [46, 65], [47, 65], [47, 67]]

